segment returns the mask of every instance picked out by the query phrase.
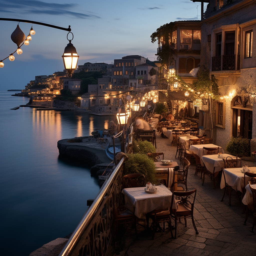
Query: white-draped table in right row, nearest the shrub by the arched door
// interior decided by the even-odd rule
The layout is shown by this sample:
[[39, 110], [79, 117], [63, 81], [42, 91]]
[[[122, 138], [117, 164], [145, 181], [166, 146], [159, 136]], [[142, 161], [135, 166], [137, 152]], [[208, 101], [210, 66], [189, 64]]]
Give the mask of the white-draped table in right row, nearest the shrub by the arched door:
[[[209, 172], [211, 173], [214, 172], [215, 175], [217, 175], [217, 173], [220, 172], [225, 167], [225, 163], [223, 160], [225, 160], [228, 156], [234, 159], [236, 158], [230, 154], [222, 154], [222, 157], [219, 157], [219, 155], [216, 154], [216, 155], [204, 155], [201, 157], [201, 159], [202, 159], [202, 162], [205, 164], [206, 169]], [[237, 159], [240, 160], [239, 157]]]

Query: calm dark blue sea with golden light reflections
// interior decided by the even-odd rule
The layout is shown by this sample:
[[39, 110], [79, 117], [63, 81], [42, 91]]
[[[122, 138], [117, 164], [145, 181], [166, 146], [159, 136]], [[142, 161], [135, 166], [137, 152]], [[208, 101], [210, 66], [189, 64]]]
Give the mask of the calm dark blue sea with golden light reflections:
[[86, 163], [58, 159], [57, 141], [107, 128], [111, 116], [37, 111], [0, 91], [1, 255], [27, 256], [71, 233], [100, 186]]

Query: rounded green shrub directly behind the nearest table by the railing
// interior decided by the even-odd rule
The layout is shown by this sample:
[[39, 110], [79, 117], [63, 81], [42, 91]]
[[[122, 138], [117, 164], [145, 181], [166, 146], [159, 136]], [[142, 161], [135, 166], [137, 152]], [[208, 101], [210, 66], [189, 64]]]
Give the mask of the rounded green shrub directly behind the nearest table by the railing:
[[124, 175], [129, 173], [141, 173], [145, 175], [145, 182], [158, 184], [155, 177], [156, 167], [154, 160], [145, 154], [129, 154], [129, 158], [125, 160]]

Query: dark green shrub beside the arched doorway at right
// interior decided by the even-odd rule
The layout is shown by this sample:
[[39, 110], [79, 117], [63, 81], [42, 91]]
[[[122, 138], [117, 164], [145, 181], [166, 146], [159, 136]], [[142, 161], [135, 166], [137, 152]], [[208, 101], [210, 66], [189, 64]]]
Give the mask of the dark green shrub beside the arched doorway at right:
[[231, 154], [250, 155], [250, 140], [242, 137], [232, 137], [226, 146], [226, 150]]

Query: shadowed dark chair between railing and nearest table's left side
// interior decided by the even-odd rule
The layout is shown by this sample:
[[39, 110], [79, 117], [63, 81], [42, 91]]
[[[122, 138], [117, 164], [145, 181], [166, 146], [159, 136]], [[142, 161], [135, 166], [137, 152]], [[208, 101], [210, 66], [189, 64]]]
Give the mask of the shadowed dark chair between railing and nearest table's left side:
[[136, 235], [136, 238], [138, 239], [137, 228], [136, 228], [137, 218], [133, 212], [131, 212], [124, 206], [116, 207], [115, 208], [115, 222], [116, 222], [116, 234], [118, 234], [118, 226], [119, 225], [121, 225], [121, 224], [127, 225], [128, 223], [133, 223], [135, 226], [135, 235]]

